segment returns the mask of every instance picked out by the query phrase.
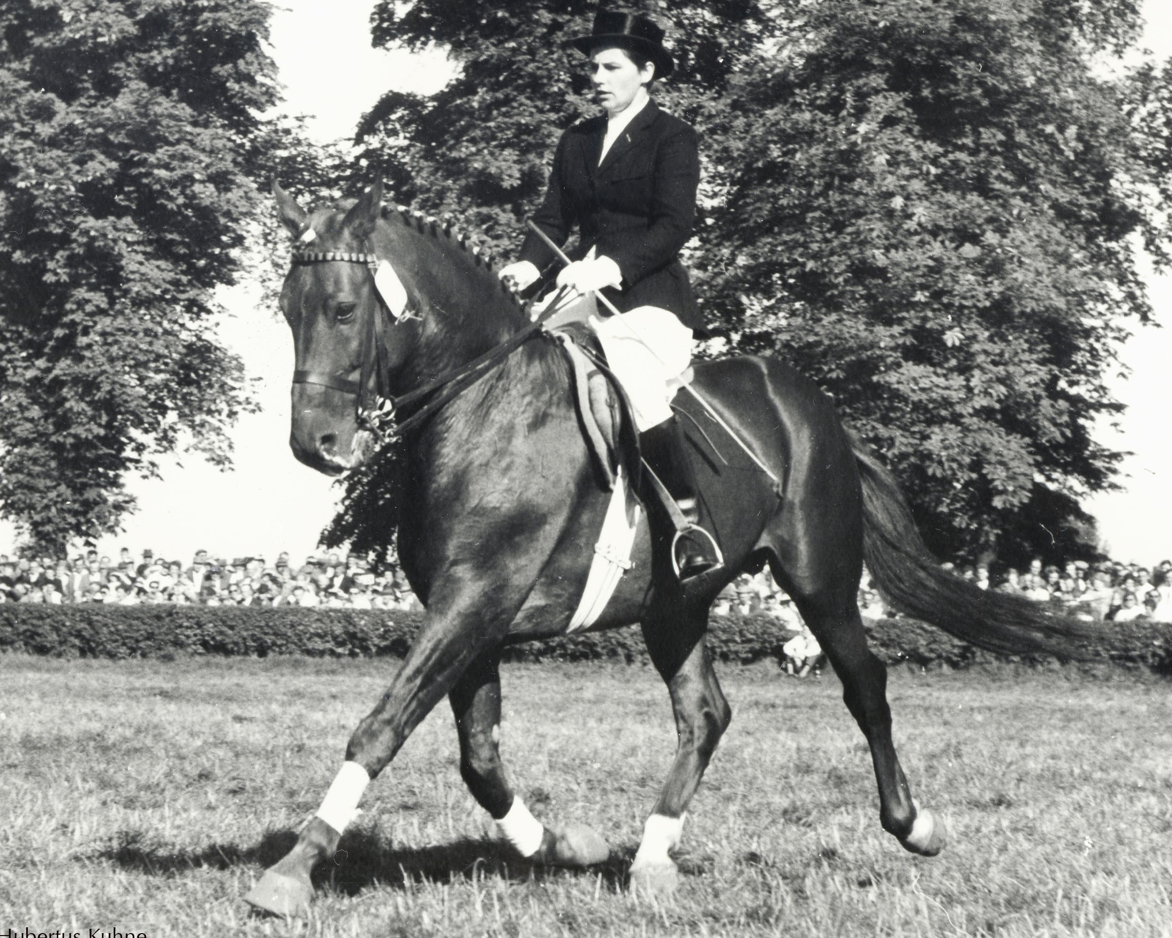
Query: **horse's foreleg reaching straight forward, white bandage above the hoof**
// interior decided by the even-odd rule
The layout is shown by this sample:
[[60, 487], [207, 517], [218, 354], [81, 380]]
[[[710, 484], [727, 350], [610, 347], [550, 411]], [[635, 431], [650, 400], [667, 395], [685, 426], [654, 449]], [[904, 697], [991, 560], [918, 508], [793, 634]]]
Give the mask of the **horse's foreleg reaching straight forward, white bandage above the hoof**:
[[442, 614], [431, 616], [429, 610], [390, 687], [350, 736], [346, 762], [318, 814], [288, 855], [245, 896], [248, 903], [281, 916], [306, 911], [313, 898], [309, 875], [336, 851], [367, 783], [386, 768], [469, 665], [500, 645], [525, 593], [516, 584], [493, 585], [496, 589], [456, 597]]

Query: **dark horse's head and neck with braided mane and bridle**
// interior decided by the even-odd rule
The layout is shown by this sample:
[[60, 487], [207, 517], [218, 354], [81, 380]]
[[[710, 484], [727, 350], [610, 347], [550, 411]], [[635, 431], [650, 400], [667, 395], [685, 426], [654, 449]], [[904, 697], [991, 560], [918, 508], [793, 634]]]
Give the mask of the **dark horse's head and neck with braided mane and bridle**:
[[475, 358], [524, 318], [483, 254], [435, 219], [382, 209], [381, 181], [314, 211], [275, 183], [273, 195], [295, 239], [280, 298], [297, 361], [289, 446], [340, 475], [375, 451], [381, 399]]

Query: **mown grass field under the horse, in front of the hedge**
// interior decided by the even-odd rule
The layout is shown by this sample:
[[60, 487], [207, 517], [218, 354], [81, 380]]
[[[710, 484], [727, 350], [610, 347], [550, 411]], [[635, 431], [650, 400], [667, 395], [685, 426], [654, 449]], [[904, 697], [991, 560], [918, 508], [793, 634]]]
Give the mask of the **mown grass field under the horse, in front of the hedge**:
[[724, 667], [732, 727], [693, 803], [672, 903], [625, 890], [674, 747], [649, 669], [515, 665], [503, 749], [539, 817], [613, 858], [533, 871], [488, 838], [447, 707], [376, 780], [308, 922], [240, 896], [316, 808], [396, 661], [0, 657], [0, 934], [1172, 934], [1172, 684], [893, 671], [936, 859], [883, 832], [837, 680]]

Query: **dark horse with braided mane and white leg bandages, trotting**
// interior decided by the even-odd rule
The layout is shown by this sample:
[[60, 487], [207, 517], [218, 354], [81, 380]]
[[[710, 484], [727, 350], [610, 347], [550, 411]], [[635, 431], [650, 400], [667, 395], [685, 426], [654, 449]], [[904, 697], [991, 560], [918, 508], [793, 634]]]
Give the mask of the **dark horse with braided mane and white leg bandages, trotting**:
[[[462, 238], [435, 219], [381, 209], [381, 183], [356, 203], [313, 213], [275, 193], [302, 251], [281, 294], [297, 349], [289, 442], [298, 460], [336, 475], [372, 450], [360, 401], [375, 390], [395, 396], [418, 388], [529, 320], [491, 264]], [[397, 319], [364, 263], [372, 256], [391, 264], [406, 292], [407, 311]], [[942, 824], [912, 801], [892, 745], [886, 672], [859, 618], [864, 559], [904, 611], [987, 648], [1061, 653], [1072, 648], [1077, 626], [941, 570], [892, 477], [847, 435], [826, 395], [784, 362], [706, 361], [695, 367], [694, 387], [781, 484], [694, 400], [679, 395], [691, 417], [684, 421], [690, 456], [725, 566], [681, 587], [667, 550], [670, 525], [648, 525], [643, 516], [634, 565], [593, 626], [640, 624], [679, 730], [675, 762], [631, 870], [633, 885], [675, 884], [668, 850], [730, 719], [704, 648], [708, 610], [729, 580], [762, 563], [793, 598], [843, 682], [871, 747], [880, 823], [907, 850], [935, 855]], [[248, 896], [278, 913], [304, 910], [313, 895], [309, 874], [336, 849], [367, 781], [444, 695], [456, 715], [461, 774], [523, 856], [561, 865], [607, 856], [606, 843], [586, 828], [534, 821], [513, 794], [497, 747], [502, 648], [565, 633], [609, 497], [584, 443], [558, 344], [536, 333], [518, 345], [408, 433], [404, 447], [398, 556], [427, 614], [398, 673], [350, 738], [319, 815]]]

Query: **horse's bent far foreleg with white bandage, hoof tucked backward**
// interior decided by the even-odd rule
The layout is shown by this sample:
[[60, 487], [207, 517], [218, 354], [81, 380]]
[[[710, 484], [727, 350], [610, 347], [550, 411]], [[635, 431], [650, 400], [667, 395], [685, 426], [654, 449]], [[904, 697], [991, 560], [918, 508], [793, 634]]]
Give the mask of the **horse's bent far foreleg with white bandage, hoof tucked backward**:
[[529, 813], [505, 777], [500, 760], [499, 653], [484, 655], [464, 672], [448, 695], [459, 734], [459, 774], [518, 854], [533, 863], [588, 866], [611, 855], [587, 827], [551, 829]]

